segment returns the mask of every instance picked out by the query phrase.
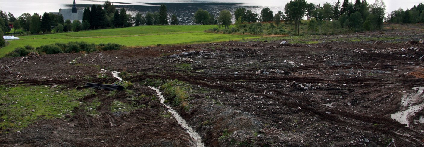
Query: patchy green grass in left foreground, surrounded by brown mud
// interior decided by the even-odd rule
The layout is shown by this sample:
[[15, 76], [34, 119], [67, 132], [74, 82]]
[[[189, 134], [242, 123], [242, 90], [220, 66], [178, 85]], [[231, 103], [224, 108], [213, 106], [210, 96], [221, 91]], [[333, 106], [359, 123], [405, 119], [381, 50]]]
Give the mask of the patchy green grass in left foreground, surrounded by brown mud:
[[17, 131], [40, 119], [63, 118], [80, 105], [79, 98], [93, 92], [60, 86], [0, 86], [0, 128]]

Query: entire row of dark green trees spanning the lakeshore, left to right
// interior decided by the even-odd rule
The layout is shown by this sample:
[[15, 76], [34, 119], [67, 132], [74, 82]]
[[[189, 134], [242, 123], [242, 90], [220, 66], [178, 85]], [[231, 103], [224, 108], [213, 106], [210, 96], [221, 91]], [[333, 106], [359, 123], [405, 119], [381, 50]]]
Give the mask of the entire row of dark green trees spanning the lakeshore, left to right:
[[[383, 20], [389, 23], [417, 23], [424, 22], [424, 5], [419, 3], [411, 9], [402, 10], [399, 8], [391, 12], [385, 18], [385, 4], [382, 0], [375, 0], [373, 4], [368, 4], [367, 0], [338, 0], [335, 3], [324, 3], [315, 5], [307, 3], [306, 0], [291, 0], [284, 7], [285, 11], [278, 11], [273, 14], [270, 8], [264, 8], [259, 14], [253, 13], [246, 8], [237, 8], [234, 11], [236, 24], [253, 22], [273, 22], [279, 25], [281, 22], [294, 25], [297, 34], [300, 32], [302, 19], [307, 18], [307, 30], [311, 32], [326, 32], [329, 29], [344, 29], [351, 31], [372, 31], [382, 29]], [[194, 22], [199, 25], [216, 25], [228, 28], [232, 24], [232, 14], [229, 10], [220, 11], [218, 17], [208, 11], [198, 9], [194, 16]], [[82, 22], [64, 20], [63, 16], [53, 13], [44, 13], [40, 16], [24, 13], [19, 17], [14, 17], [11, 13], [0, 10], [0, 31], [9, 32], [8, 24], [14, 24], [14, 28], [19, 28], [30, 33], [49, 33], [63, 31], [80, 31], [102, 28], [123, 28], [138, 25], [178, 25], [176, 15], [172, 15], [168, 22], [167, 8], [161, 5], [159, 12], [148, 12], [144, 16], [137, 13], [131, 16], [125, 8], [119, 10], [107, 0], [103, 5], [92, 5], [84, 8]], [[4, 25], [3, 25], [4, 24]], [[272, 27], [271, 27], [272, 28]], [[17, 29], [16, 29], [17, 30]], [[15, 31], [16, 31], [15, 30]], [[280, 31], [281, 32], [281, 31]]]

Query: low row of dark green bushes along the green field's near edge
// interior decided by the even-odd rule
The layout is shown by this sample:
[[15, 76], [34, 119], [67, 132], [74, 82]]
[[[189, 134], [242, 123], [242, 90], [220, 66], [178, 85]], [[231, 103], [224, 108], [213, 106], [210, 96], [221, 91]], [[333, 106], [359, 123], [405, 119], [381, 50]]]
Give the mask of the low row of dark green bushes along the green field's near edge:
[[32, 47], [26, 45], [24, 47], [15, 48], [12, 52], [6, 54], [6, 57], [19, 57], [28, 55], [28, 53], [35, 52], [39, 54], [57, 54], [57, 53], [92, 53], [99, 50], [119, 50], [123, 47], [120, 44], [94, 44], [87, 42], [68, 42], [68, 43], [55, 43], [43, 45], [40, 47]]

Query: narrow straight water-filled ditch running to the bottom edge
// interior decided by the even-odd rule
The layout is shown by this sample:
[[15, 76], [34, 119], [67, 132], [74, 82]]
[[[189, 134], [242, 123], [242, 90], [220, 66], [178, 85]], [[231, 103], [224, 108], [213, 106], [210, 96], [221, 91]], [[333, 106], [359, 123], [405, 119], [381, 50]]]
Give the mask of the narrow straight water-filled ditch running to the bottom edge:
[[204, 147], [205, 145], [201, 142], [202, 138], [200, 137], [200, 135], [187, 124], [187, 122], [177, 113], [177, 111], [173, 110], [171, 106], [166, 105], [164, 103], [165, 98], [162, 96], [161, 92], [159, 92], [159, 89], [151, 87], [151, 86], [149, 86], [149, 88], [156, 91], [156, 93], [158, 94], [160, 98], [160, 103], [162, 103], [163, 105], [165, 105], [166, 108], [168, 108], [168, 111], [174, 115], [178, 123], [187, 131], [187, 133], [190, 134], [190, 137], [196, 141], [196, 144], [197, 144], [196, 147]]

